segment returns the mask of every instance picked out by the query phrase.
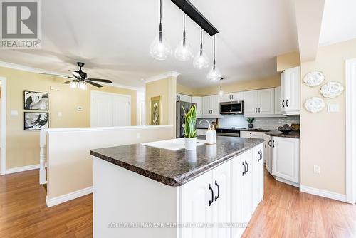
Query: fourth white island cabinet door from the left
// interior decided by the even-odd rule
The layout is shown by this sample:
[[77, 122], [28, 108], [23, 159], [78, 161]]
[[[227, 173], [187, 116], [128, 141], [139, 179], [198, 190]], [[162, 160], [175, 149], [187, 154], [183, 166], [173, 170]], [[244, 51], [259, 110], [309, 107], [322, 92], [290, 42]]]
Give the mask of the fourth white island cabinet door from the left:
[[252, 156], [252, 150], [244, 153], [244, 165], [246, 167], [246, 173], [242, 180], [244, 223], [248, 223], [252, 216]]

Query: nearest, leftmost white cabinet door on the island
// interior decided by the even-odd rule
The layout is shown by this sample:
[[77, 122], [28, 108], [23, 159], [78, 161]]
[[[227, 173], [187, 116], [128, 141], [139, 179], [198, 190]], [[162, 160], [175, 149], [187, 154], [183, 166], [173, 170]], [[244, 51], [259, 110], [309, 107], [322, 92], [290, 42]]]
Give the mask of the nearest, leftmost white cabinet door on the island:
[[[184, 223], [211, 223], [212, 209], [214, 203], [209, 206], [211, 200], [211, 184], [212, 171], [206, 172], [194, 180], [187, 182], [182, 186], [182, 220]], [[197, 238], [197, 237], [212, 237], [211, 228], [184, 227], [181, 228], [182, 237]]]

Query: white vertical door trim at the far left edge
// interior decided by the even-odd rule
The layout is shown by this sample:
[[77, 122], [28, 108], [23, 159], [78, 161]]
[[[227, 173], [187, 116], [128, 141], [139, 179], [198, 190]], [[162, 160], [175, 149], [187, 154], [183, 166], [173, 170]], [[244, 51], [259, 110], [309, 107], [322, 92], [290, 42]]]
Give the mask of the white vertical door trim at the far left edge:
[[0, 175], [6, 174], [6, 78], [0, 77], [1, 81], [1, 153], [0, 153]]

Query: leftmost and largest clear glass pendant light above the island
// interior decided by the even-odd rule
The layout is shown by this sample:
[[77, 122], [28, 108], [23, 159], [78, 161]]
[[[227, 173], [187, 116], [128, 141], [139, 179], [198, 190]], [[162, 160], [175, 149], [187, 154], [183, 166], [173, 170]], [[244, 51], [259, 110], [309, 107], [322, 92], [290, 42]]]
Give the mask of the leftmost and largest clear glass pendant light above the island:
[[171, 54], [172, 48], [162, 36], [162, 0], [159, 0], [159, 33], [151, 44], [150, 55], [159, 61], [164, 61]]

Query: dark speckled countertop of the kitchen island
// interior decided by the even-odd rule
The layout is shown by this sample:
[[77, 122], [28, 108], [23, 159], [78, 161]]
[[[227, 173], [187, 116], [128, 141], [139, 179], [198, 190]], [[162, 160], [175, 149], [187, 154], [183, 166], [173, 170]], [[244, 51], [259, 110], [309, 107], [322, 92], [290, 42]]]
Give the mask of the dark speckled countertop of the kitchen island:
[[[199, 136], [205, 139], [205, 136]], [[90, 150], [90, 155], [169, 186], [181, 186], [236, 155], [263, 143], [261, 139], [218, 136], [216, 145], [197, 150], [165, 150], [146, 145], [122, 145]]]

